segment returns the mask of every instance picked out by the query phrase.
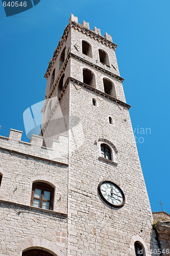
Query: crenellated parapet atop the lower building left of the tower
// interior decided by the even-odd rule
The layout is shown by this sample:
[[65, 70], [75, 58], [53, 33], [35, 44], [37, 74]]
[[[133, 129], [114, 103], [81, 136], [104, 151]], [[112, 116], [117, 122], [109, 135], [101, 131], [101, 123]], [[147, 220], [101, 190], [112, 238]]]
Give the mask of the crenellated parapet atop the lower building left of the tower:
[[53, 140], [52, 148], [43, 146], [44, 139], [41, 136], [32, 135], [30, 142], [22, 141], [21, 136], [22, 132], [14, 129], [10, 130], [9, 137], [0, 136], [0, 150], [42, 161], [68, 163], [67, 136], [59, 134], [58, 139]]

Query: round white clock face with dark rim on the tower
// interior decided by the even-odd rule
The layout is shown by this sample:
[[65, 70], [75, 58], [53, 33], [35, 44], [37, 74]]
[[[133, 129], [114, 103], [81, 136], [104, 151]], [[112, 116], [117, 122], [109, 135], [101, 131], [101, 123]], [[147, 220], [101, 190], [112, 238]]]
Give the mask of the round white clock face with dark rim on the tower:
[[122, 207], [125, 204], [125, 195], [120, 187], [112, 181], [102, 181], [98, 186], [98, 191], [107, 204], [113, 207]]

